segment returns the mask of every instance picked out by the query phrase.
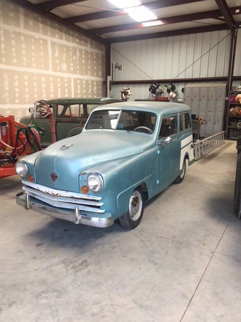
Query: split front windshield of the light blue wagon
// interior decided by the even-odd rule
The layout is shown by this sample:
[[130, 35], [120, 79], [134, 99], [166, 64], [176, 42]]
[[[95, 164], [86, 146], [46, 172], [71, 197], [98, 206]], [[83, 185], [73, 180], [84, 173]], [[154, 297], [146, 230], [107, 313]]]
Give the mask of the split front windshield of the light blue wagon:
[[152, 134], [156, 120], [156, 114], [151, 112], [99, 110], [91, 114], [86, 129], [113, 129]]

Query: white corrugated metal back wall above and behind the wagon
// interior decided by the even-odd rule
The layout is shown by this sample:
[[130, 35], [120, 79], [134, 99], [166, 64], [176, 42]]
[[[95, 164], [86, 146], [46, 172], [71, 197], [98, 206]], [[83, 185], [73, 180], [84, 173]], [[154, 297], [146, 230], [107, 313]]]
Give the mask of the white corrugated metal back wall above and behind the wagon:
[[[132, 42], [113, 43], [111, 47], [126, 56], [153, 79], [172, 79], [187, 68], [193, 61], [208, 51], [213, 45], [230, 33], [229, 30], [138, 40]], [[239, 59], [241, 32], [238, 30], [234, 75], [241, 75], [241, 60]], [[204, 55], [194, 65], [181, 73], [179, 78], [227, 76], [229, 48], [231, 35], [227, 36], [209, 53]], [[123, 64], [122, 70], [114, 69], [113, 81], [149, 79], [122, 55], [111, 48], [111, 62]], [[223, 83], [223, 82], [222, 82]], [[235, 82], [240, 83], [240, 82]], [[233, 83], [233, 85], [235, 85]], [[165, 85], [165, 84], [162, 84]], [[166, 84], [167, 85], [167, 84]], [[130, 101], [146, 99], [149, 96], [150, 84], [126, 85], [133, 95]], [[181, 89], [184, 83], [175, 83], [176, 98], [183, 97]], [[120, 98], [125, 85], [112, 87], [113, 97]]]

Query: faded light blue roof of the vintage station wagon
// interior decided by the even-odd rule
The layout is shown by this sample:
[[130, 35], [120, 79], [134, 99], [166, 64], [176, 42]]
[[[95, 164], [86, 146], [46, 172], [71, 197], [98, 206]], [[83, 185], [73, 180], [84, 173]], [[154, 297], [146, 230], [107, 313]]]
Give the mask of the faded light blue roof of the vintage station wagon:
[[[129, 111], [145, 111], [155, 114], [172, 114], [178, 112], [189, 112], [191, 108], [185, 104], [173, 103], [173, 102], [123, 102], [123, 103], [111, 103], [106, 106], [106, 109], [113, 110], [129, 110]], [[103, 107], [97, 107], [94, 109], [103, 110]]]

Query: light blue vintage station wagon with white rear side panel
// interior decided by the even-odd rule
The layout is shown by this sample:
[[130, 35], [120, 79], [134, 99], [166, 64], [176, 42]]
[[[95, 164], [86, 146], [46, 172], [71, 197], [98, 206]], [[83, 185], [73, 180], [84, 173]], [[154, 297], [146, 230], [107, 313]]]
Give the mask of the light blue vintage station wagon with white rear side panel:
[[[81, 134], [16, 164], [17, 203], [76, 224], [140, 223], [144, 202], [181, 183], [194, 162], [190, 108], [128, 102], [95, 108]], [[147, 214], [148, 215], [148, 214]]]

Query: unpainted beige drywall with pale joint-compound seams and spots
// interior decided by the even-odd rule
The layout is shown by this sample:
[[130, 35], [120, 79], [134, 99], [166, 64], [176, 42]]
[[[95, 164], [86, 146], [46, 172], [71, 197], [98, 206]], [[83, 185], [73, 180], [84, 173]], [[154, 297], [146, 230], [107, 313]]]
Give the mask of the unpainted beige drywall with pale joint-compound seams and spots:
[[0, 114], [28, 114], [35, 100], [104, 95], [104, 46], [0, 0]]

